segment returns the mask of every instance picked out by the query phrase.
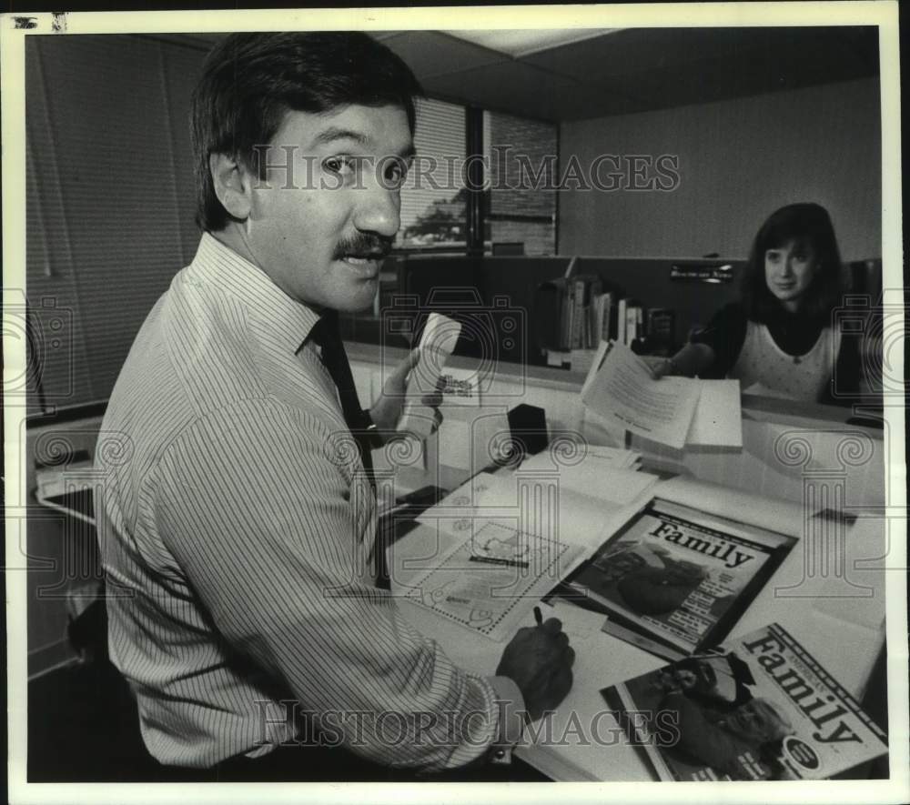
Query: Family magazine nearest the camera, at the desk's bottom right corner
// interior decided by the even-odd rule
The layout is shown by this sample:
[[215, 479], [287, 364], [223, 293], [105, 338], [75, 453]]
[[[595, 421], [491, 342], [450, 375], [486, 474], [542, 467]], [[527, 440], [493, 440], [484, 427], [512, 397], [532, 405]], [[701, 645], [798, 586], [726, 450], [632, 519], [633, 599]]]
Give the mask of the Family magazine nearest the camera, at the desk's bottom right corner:
[[885, 733], [776, 623], [601, 694], [655, 780], [844, 777], [888, 750]]

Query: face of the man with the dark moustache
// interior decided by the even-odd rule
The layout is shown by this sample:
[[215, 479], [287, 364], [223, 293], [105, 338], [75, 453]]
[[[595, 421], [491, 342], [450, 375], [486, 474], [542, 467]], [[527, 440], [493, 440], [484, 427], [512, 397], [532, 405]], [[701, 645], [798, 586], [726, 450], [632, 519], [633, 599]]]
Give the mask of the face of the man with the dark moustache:
[[300, 302], [369, 307], [400, 224], [402, 167], [413, 153], [405, 111], [288, 112], [270, 146], [260, 156], [266, 179], [251, 178], [243, 225], [250, 256]]

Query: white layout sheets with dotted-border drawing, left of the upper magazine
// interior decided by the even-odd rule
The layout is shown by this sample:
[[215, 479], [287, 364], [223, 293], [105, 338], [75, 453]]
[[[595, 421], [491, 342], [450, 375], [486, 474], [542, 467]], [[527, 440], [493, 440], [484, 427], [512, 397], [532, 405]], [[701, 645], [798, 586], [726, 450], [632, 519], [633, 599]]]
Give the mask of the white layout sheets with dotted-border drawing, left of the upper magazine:
[[[442, 550], [396, 594], [493, 640], [514, 634], [531, 608], [650, 497], [657, 478], [588, 457], [584, 488], [539, 454], [521, 468], [481, 473], [418, 522]], [[574, 474], [574, 473], [572, 473]]]

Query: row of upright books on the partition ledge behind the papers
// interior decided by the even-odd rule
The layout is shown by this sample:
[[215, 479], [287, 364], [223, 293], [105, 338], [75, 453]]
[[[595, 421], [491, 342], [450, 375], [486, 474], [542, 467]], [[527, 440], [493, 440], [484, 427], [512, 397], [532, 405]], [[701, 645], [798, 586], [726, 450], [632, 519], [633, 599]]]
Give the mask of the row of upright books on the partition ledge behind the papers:
[[652, 355], [672, 353], [675, 314], [667, 307], [644, 307], [632, 298], [605, 291], [601, 277], [579, 274], [545, 282], [537, 292], [541, 347], [593, 349], [613, 340], [643, 342]]

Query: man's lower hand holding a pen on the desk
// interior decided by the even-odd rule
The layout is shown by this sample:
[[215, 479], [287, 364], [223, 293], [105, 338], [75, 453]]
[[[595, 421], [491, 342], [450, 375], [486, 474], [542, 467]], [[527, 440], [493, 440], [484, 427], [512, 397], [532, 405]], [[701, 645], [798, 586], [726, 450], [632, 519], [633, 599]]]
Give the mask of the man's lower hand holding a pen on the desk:
[[575, 651], [559, 619], [519, 629], [502, 652], [496, 675], [509, 677], [521, 690], [531, 721], [555, 709], [571, 689]]

